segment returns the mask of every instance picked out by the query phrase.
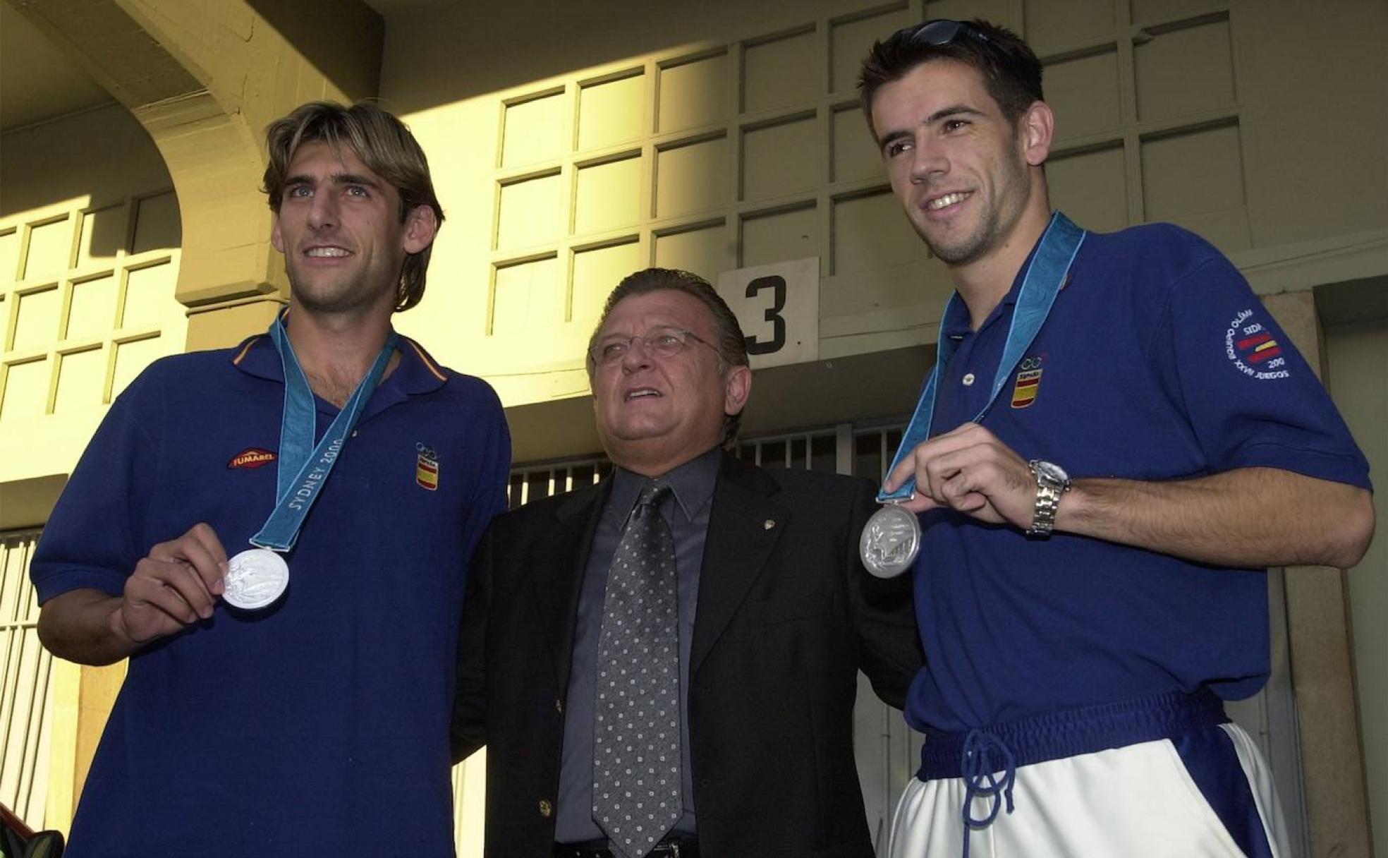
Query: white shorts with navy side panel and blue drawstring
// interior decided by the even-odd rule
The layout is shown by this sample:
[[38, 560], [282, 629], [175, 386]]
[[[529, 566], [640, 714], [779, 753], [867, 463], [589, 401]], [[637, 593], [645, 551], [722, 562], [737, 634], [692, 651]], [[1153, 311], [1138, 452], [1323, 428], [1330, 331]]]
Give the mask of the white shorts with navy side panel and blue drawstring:
[[[1239, 771], [1212, 732], [1233, 743]], [[1013, 812], [970, 832], [970, 858], [1287, 858], [1271, 772], [1248, 733], [1224, 723], [1191, 737], [1017, 766]], [[966, 794], [963, 777], [912, 779], [892, 821], [891, 858], [963, 855]], [[973, 819], [987, 819], [992, 801], [976, 794]], [[1242, 818], [1226, 825], [1216, 807]]]

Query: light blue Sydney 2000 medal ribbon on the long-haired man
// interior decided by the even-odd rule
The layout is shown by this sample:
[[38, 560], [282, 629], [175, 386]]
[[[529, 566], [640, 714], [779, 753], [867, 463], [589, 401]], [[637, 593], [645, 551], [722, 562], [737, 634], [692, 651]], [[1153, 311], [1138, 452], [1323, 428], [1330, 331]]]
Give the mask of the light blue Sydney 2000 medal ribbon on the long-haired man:
[[308, 385], [303, 367], [294, 355], [294, 347], [285, 330], [283, 317], [276, 317], [269, 326], [269, 339], [279, 351], [285, 367], [285, 414], [279, 425], [279, 472], [275, 489], [275, 511], [265, 519], [260, 533], [251, 537], [251, 544], [272, 551], [289, 551], [298, 539], [308, 510], [318, 500], [328, 475], [332, 473], [341, 454], [347, 436], [357, 426], [366, 400], [371, 398], [380, 376], [386, 373], [390, 355], [396, 351], [400, 335], [390, 332], [390, 339], [376, 355], [366, 378], [357, 385], [351, 398], [333, 419], [323, 440], [314, 446], [314, 432], [318, 426], [318, 408], [314, 405], [314, 389]]

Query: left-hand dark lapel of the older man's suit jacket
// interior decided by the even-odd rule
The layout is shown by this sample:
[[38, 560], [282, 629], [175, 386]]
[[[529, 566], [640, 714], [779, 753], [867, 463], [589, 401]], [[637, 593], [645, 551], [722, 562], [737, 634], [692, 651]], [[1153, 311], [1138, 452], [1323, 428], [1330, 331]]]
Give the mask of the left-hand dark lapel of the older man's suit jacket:
[[559, 694], [569, 687], [579, 593], [609, 483], [611, 480], [604, 480], [591, 489], [580, 489], [559, 503], [554, 511], [554, 525], [539, 537], [543, 547], [530, 554], [537, 565], [530, 576], [534, 583], [534, 604], [548, 639]]

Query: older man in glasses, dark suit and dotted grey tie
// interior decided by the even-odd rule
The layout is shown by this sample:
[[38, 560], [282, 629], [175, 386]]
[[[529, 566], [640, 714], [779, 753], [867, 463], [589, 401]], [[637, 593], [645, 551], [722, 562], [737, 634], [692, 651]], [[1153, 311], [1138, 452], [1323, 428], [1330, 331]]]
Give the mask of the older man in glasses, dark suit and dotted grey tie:
[[626, 278], [587, 365], [615, 473], [496, 519], [465, 603], [487, 855], [870, 857], [856, 672], [899, 707], [922, 662], [858, 560], [872, 485], [723, 451], [752, 373], [691, 274]]

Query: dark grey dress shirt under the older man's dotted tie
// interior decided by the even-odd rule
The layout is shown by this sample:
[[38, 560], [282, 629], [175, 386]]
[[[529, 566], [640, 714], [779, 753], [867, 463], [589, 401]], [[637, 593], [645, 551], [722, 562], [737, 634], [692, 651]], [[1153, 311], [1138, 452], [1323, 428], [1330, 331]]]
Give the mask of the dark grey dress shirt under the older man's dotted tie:
[[[680, 632], [680, 794], [684, 815], [676, 832], [694, 833], [694, 776], [690, 766], [688, 664], [694, 637], [694, 607], [698, 604], [698, 576], [704, 562], [704, 537], [713, 501], [713, 485], [723, 460], [719, 447], [684, 462], [661, 478], [673, 489], [661, 504], [661, 515], [675, 535], [675, 576], [679, 597]], [[616, 468], [612, 491], [593, 535], [579, 615], [573, 628], [573, 664], [564, 709], [564, 758], [559, 764], [559, 801], [554, 839], [559, 843], [602, 840], [607, 834], [593, 821], [593, 697], [597, 678], [598, 633], [602, 628], [602, 597], [608, 568], [622, 539], [636, 497], [648, 480]]]

